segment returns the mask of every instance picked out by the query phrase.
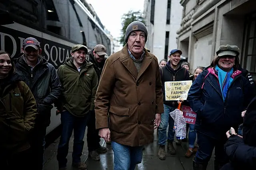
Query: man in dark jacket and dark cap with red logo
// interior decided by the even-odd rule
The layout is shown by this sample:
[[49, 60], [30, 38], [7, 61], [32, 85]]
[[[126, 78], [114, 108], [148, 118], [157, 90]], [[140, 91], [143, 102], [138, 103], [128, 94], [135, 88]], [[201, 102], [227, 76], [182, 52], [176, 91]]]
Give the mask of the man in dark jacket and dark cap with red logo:
[[42, 57], [37, 39], [28, 37], [22, 44], [23, 55], [17, 59], [16, 72], [32, 91], [38, 115], [30, 137], [31, 166], [42, 170], [46, 127], [50, 125], [52, 104], [61, 93], [61, 84], [54, 66]]

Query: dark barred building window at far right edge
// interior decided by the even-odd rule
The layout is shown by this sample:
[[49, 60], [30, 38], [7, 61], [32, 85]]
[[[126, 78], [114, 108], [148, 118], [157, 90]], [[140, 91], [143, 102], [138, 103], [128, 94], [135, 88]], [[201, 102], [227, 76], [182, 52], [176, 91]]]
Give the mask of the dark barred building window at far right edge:
[[256, 13], [248, 16], [245, 31], [244, 67], [250, 72], [256, 72]]

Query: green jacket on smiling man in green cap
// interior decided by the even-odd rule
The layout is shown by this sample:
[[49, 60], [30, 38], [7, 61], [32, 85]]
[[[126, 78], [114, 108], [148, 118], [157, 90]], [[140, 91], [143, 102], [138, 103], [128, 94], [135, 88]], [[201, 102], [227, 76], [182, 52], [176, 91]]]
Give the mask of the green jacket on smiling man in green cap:
[[58, 68], [58, 76], [62, 84], [61, 104], [59, 110], [66, 109], [71, 114], [82, 117], [94, 109], [94, 98], [98, 87], [98, 77], [93, 64], [84, 62], [80, 72], [70, 57]]

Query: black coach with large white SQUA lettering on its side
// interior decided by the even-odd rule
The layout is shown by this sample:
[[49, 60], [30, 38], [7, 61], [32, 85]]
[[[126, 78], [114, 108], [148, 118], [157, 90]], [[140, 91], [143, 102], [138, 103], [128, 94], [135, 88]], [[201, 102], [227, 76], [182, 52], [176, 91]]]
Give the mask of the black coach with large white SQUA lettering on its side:
[[[110, 39], [84, 0], [5, 0], [0, 2], [0, 18], [0, 50], [11, 57], [20, 56], [27, 37], [38, 39], [43, 56], [56, 68], [70, 57], [75, 44], [89, 50], [103, 44], [110, 55]], [[60, 114], [54, 107], [47, 134], [59, 125]]]

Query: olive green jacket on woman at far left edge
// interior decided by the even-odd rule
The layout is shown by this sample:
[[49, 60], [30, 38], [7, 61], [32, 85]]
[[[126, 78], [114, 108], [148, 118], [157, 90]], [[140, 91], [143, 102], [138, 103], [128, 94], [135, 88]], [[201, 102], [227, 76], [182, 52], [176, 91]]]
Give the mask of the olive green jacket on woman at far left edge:
[[36, 100], [17, 75], [0, 81], [0, 154], [14, 154], [30, 147], [28, 135], [36, 114]]

